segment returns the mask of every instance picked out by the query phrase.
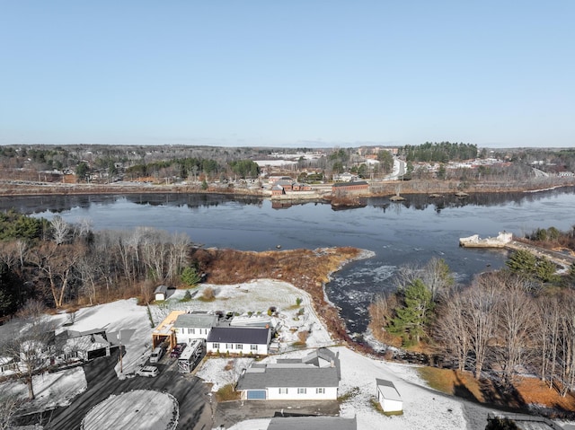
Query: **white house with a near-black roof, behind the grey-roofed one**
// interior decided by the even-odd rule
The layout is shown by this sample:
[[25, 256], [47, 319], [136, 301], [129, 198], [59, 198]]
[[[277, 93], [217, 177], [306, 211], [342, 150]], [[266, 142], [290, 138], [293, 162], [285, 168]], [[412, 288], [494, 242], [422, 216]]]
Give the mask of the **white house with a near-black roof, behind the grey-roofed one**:
[[271, 329], [261, 327], [214, 327], [206, 339], [212, 354], [268, 355]]

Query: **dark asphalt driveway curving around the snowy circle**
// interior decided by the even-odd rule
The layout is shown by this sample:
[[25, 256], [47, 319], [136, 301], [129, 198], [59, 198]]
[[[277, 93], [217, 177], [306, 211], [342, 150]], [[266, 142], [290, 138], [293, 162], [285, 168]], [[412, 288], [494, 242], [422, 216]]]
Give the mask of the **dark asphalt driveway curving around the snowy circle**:
[[[46, 429], [77, 430], [88, 411], [111, 394], [132, 390], [155, 390], [172, 394], [180, 405], [178, 429], [212, 428], [212, 410], [208, 387], [197, 377], [177, 372], [174, 360], [165, 357], [157, 364], [155, 378], [133, 377], [120, 381], [114, 372], [117, 357], [102, 357], [84, 365], [88, 388], [66, 408], [54, 411]], [[113, 428], [107, 430], [114, 430]]]

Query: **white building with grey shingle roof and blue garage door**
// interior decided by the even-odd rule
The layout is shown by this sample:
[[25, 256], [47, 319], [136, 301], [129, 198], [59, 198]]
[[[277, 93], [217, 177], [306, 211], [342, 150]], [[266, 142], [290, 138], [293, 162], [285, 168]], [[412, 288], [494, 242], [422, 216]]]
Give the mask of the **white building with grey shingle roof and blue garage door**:
[[236, 390], [247, 400], [337, 400], [340, 379], [339, 356], [320, 348], [299, 360], [252, 364]]

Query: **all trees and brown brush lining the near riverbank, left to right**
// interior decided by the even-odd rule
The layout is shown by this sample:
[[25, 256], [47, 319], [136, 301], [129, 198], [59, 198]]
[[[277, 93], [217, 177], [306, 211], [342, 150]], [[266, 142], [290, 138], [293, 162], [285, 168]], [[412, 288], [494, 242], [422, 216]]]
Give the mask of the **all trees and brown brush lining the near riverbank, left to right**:
[[[574, 250], [574, 232], [537, 229], [525, 240]], [[313, 295], [335, 339], [352, 343], [337, 309], [325, 303], [323, 285], [360, 255], [351, 248], [204, 250], [186, 234], [145, 227], [93, 232], [88, 221], [68, 224], [55, 216], [49, 222], [9, 210], [0, 214], [0, 316], [27, 303], [68, 312], [128, 297], [148, 303], [160, 284], [285, 278]], [[526, 251], [512, 254], [506, 266], [475, 276], [470, 285], [456, 285], [441, 259], [401, 268], [396, 292], [373, 301], [370, 329], [387, 345], [415, 348], [437, 365], [488, 378], [504, 391], [528, 373], [567, 396], [575, 388], [575, 268], [558, 274]]]

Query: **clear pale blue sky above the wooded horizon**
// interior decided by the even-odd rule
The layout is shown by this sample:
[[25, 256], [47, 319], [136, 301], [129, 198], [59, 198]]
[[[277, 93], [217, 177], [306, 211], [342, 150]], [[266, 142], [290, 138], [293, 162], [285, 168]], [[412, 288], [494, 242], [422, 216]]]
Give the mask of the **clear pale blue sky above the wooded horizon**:
[[575, 146], [575, 1], [0, 0], [0, 144]]

